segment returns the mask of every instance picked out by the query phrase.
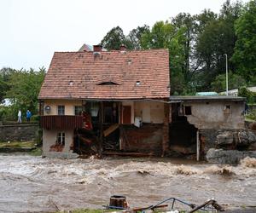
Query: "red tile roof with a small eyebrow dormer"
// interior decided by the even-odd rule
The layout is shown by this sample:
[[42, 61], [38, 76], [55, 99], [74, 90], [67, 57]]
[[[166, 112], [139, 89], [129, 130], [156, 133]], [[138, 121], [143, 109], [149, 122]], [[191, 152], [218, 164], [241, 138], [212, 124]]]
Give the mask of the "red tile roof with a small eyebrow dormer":
[[39, 99], [169, 98], [169, 84], [167, 49], [55, 52]]

